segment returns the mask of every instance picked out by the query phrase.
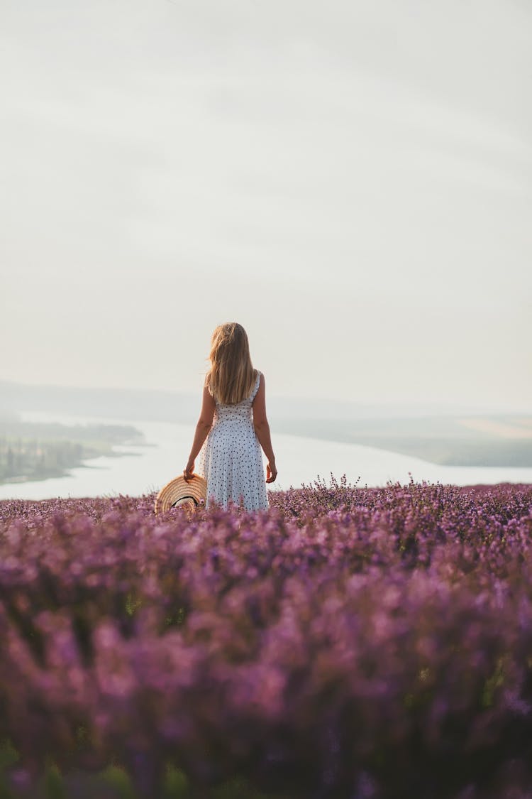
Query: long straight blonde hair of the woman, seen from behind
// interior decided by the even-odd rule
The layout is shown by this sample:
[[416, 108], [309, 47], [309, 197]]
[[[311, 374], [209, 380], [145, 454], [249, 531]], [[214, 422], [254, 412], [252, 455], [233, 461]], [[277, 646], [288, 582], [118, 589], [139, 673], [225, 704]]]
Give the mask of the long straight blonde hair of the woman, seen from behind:
[[238, 322], [220, 324], [211, 338], [211, 368], [205, 385], [215, 400], [223, 405], [235, 405], [246, 400], [257, 373], [250, 358], [247, 333]]

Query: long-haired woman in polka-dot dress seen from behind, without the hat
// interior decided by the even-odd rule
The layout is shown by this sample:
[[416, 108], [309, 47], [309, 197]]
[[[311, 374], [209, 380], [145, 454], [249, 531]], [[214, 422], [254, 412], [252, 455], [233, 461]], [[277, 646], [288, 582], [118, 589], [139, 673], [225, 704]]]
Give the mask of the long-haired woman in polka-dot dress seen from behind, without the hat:
[[[199, 474], [207, 480], [207, 503], [243, 503], [247, 511], [269, 507], [266, 483], [277, 477], [266, 418], [264, 375], [253, 368], [246, 331], [237, 322], [221, 324], [211, 339], [211, 368], [185, 480], [199, 455]], [[266, 481], [261, 447], [268, 459]]]

